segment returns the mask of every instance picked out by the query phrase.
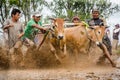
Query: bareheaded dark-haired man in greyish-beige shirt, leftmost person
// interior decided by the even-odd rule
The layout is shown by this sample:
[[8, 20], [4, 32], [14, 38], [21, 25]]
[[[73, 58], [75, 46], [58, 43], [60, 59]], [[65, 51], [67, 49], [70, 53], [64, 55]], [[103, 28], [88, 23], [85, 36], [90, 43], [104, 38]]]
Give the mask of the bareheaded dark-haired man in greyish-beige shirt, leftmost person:
[[[15, 53], [16, 50], [22, 45], [19, 35], [23, 32], [23, 25], [19, 21], [21, 11], [13, 9], [11, 12], [11, 19], [4, 22], [4, 32], [8, 34], [8, 45], [10, 53]], [[6, 41], [7, 42], [7, 41]]]

